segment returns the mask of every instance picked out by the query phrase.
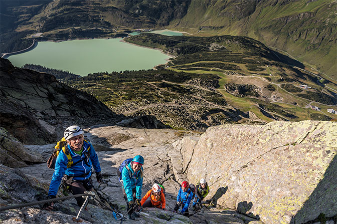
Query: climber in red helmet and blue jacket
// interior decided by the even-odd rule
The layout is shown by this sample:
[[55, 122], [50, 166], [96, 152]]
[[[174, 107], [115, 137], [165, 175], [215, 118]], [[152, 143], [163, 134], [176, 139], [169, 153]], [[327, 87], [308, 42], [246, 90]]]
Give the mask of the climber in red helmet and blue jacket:
[[[178, 211], [180, 214], [189, 216], [189, 206], [193, 198], [193, 192], [190, 189], [190, 184], [188, 181], [183, 181], [177, 196], [177, 204], [175, 206], [175, 211]], [[182, 207], [181, 209], [179, 209]], [[179, 210], [178, 210], [179, 209]]]

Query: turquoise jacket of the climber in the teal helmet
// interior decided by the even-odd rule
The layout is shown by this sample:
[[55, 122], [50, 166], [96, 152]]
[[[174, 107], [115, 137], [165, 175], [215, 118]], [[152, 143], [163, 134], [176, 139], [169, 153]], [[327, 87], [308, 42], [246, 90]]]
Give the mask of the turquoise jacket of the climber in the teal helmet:
[[122, 180], [123, 187], [127, 196], [127, 200], [133, 200], [132, 189], [136, 188], [136, 198], [141, 199], [141, 186], [143, 185], [143, 167], [141, 167], [137, 172], [134, 172], [131, 166], [132, 162], [127, 164], [129, 171], [126, 166], [122, 169]]

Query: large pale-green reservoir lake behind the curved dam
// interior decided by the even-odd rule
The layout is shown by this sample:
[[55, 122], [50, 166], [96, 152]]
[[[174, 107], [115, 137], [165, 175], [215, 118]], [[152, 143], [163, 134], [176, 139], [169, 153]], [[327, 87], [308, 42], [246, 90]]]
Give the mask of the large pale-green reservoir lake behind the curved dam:
[[165, 64], [170, 58], [158, 50], [138, 47], [120, 40], [39, 42], [32, 51], [12, 55], [8, 59], [17, 67], [36, 64], [86, 76], [94, 72], [151, 69]]

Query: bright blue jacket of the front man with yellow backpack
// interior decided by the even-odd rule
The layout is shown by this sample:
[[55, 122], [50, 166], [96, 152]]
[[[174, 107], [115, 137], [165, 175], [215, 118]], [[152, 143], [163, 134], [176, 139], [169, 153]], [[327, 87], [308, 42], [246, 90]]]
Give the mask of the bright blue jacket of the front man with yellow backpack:
[[[52, 181], [50, 182], [49, 186], [49, 192], [48, 195], [56, 195], [57, 191], [60, 187], [61, 180], [64, 174], [69, 176], [74, 176], [73, 180], [85, 180], [88, 179], [91, 176], [91, 167], [94, 166], [95, 172], [100, 172], [101, 167], [99, 165], [98, 156], [95, 152], [94, 147], [90, 142], [83, 141], [83, 151], [82, 154], [76, 154], [71, 148], [70, 145], [67, 145], [69, 153], [73, 159], [73, 164], [75, 164], [77, 161], [82, 160], [81, 162], [70, 166], [67, 168], [68, 164], [68, 158], [67, 155], [63, 152], [63, 150], [60, 150], [59, 155], [57, 156], [56, 163], [55, 163], [55, 170], [52, 177]], [[85, 154], [89, 150], [89, 161], [87, 164], [85, 163]]]

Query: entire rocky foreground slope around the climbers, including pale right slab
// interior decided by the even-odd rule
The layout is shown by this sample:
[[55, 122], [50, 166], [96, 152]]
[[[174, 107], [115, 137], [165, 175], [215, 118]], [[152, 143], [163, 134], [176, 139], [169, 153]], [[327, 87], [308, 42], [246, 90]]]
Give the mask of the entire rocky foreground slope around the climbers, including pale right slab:
[[[167, 211], [144, 208], [136, 218], [138, 223], [297, 224], [324, 219], [331, 224], [337, 217], [336, 127], [336, 122], [321, 121], [226, 124], [202, 134], [95, 125], [85, 129], [85, 138], [93, 144], [102, 167], [104, 181], [98, 184], [93, 174], [95, 188], [122, 213], [126, 203], [116, 170], [124, 159], [135, 155], [145, 159], [142, 195], [154, 182], [165, 187]], [[9, 142], [20, 143], [6, 131], [2, 139], [7, 154], [11, 154]], [[34, 156], [12, 156], [18, 163], [1, 160], [0, 206], [46, 198], [53, 170], [41, 160], [46, 161], [54, 145], [22, 145], [21, 150], [34, 152]], [[191, 212], [190, 217], [172, 212], [180, 183], [197, 184], [200, 178], [206, 178], [210, 187], [204, 212]], [[120, 223], [95, 203], [82, 212], [80, 221], [74, 221], [79, 209], [72, 198], [57, 203], [53, 211], [41, 205], [1, 211], [0, 220]]]

